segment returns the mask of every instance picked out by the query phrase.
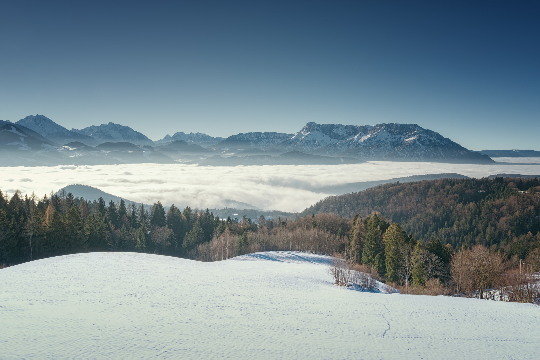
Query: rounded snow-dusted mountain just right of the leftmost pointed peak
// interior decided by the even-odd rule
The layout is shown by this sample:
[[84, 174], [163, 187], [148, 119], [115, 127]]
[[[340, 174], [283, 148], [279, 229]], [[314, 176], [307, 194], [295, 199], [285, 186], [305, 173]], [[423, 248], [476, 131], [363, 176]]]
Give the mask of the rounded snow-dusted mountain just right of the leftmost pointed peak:
[[120, 124], [92, 125], [81, 130], [73, 128], [71, 131], [90, 136], [98, 142], [132, 142], [136, 145], [154, 145], [154, 142], [147, 138], [145, 134]]

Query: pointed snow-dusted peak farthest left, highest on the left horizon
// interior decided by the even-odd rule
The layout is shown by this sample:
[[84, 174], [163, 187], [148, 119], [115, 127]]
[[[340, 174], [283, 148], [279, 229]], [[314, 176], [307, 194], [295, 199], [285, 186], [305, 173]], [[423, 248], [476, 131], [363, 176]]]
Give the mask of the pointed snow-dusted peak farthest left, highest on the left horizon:
[[16, 124], [28, 127], [43, 137], [51, 141], [58, 142], [60, 145], [67, 144], [68, 142], [72, 141], [80, 141], [86, 145], [98, 144], [96, 139], [89, 137], [88, 135], [79, 134], [75, 131], [69, 131], [65, 127], [56, 124], [54, 121], [43, 115], [36, 114], [36, 116], [27, 116], [24, 119], [17, 121]]

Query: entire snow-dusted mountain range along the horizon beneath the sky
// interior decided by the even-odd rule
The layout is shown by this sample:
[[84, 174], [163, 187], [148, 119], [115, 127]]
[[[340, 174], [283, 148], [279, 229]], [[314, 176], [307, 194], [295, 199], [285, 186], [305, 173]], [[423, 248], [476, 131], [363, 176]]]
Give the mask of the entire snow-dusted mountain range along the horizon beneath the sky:
[[[2, 124], [8, 123], [4, 121]], [[212, 157], [213, 154], [225, 157], [233, 154], [235, 157], [261, 155], [272, 158], [284, 153], [302, 152], [325, 157], [354, 158], [359, 161], [494, 163], [494, 160], [486, 154], [489, 151], [483, 151], [483, 154], [469, 151], [441, 134], [417, 124], [392, 123], [373, 126], [307, 123], [294, 134], [248, 132], [221, 138], [204, 133], [176, 132], [172, 136], [167, 134], [155, 142], [129, 126], [114, 123], [89, 126], [81, 130], [73, 128], [70, 131], [43, 115], [30, 115], [13, 125], [21, 127], [13, 131], [25, 134], [23, 140], [19, 141], [21, 144], [28, 141], [33, 144], [33, 147], [30, 147], [29, 142], [28, 148], [19, 146], [18, 150], [21, 151], [23, 148], [25, 151], [43, 151], [43, 146], [39, 145], [42, 143], [46, 145], [45, 147], [49, 145], [59, 147], [71, 142], [79, 142], [86, 146], [96, 146], [103, 142], [130, 142], [137, 146], [151, 146], [152, 150], [148, 151], [154, 151], [153, 147], [156, 147], [155, 151], [166, 154], [173, 161], [199, 161], [199, 155]], [[12, 133], [11, 128], [5, 128], [4, 131]], [[11, 139], [14, 135], [15, 133], [6, 133], [4, 137]], [[34, 137], [35, 140], [30, 140], [27, 135]], [[41, 138], [38, 139], [39, 137]], [[10, 140], [9, 145], [7, 142], [4, 145], [13, 148], [16, 142]]]

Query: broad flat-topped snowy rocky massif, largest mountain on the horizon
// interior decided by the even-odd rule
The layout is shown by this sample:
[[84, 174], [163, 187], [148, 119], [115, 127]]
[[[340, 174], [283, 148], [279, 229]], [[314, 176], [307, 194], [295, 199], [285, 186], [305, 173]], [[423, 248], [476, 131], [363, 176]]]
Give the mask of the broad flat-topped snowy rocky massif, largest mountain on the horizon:
[[487, 155], [467, 150], [416, 124], [332, 125], [308, 123], [276, 147], [363, 160], [436, 161], [492, 164]]

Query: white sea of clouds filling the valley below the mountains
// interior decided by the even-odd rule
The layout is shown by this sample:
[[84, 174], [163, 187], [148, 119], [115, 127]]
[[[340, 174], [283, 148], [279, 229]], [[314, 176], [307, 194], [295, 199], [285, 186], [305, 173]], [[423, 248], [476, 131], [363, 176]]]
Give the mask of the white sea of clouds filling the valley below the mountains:
[[[261, 209], [296, 212], [328, 194], [315, 188], [402, 176], [458, 173], [481, 178], [498, 173], [540, 174], [540, 158], [495, 158], [497, 164], [369, 161], [352, 165], [96, 165], [0, 167], [0, 189], [38, 196], [72, 185], [97, 187], [127, 200], [192, 208], [221, 208], [225, 200]], [[93, 199], [92, 199], [93, 200]]]

